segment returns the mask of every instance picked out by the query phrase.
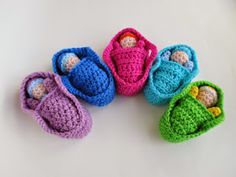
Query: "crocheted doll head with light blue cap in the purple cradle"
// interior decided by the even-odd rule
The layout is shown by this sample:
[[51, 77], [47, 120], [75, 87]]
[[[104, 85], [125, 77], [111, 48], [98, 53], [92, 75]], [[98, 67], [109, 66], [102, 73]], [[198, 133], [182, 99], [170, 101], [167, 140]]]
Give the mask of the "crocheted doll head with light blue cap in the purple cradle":
[[43, 81], [43, 78], [37, 78], [29, 82], [27, 92], [31, 98], [41, 100], [47, 94], [47, 89], [43, 85]]

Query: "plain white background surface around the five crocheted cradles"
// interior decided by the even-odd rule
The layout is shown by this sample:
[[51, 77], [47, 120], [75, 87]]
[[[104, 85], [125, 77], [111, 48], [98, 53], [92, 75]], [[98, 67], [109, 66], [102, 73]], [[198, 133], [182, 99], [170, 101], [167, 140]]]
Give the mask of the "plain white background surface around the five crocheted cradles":
[[[100, 56], [122, 28], [158, 46], [192, 46], [200, 74], [225, 91], [226, 121], [181, 144], [160, 138], [166, 107], [142, 94], [89, 106], [94, 126], [82, 140], [44, 133], [19, 108], [22, 79], [51, 70], [52, 55], [90, 46]], [[236, 1], [0, 0], [1, 177], [235, 177]]]

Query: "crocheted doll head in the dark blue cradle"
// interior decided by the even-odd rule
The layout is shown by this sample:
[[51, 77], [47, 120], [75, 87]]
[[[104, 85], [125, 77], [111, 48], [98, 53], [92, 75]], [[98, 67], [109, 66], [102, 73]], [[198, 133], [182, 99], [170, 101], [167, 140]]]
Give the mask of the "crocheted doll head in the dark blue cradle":
[[74, 53], [65, 53], [58, 59], [59, 68], [63, 73], [69, 73], [72, 68], [80, 62], [79, 57]]

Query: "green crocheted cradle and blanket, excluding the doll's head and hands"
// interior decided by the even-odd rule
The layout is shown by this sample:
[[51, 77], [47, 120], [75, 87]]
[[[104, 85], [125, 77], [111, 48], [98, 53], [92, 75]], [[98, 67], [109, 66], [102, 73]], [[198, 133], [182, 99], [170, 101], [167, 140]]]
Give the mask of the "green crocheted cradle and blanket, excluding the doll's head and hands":
[[[222, 113], [214, 117], [207, 108], [189, 94], [192, 86], [208, 85], [218, 93], [217, 105]], [[173, 143], [197, 137], [224, 120], [224, 93], [208, 81], [197, 81], [188, 85], [180, 94], [172, 98], [160, 121], [161, 136]]]

